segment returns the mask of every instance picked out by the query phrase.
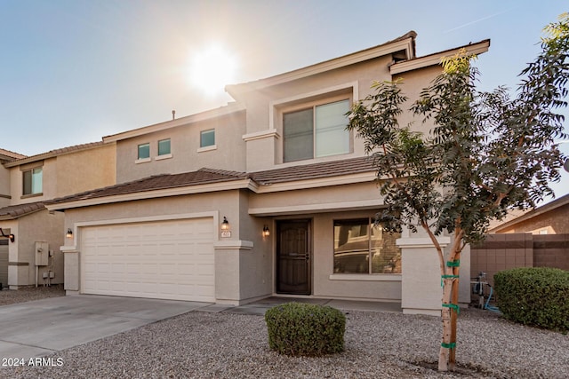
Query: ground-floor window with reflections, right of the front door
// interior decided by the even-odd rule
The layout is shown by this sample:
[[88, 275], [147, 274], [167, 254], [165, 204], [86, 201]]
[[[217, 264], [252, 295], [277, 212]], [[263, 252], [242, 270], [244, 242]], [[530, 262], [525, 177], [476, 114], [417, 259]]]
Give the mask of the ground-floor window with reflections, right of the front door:
[[334, 221], [334, 272], [401, 273], [399, 237], [370, 218]]

